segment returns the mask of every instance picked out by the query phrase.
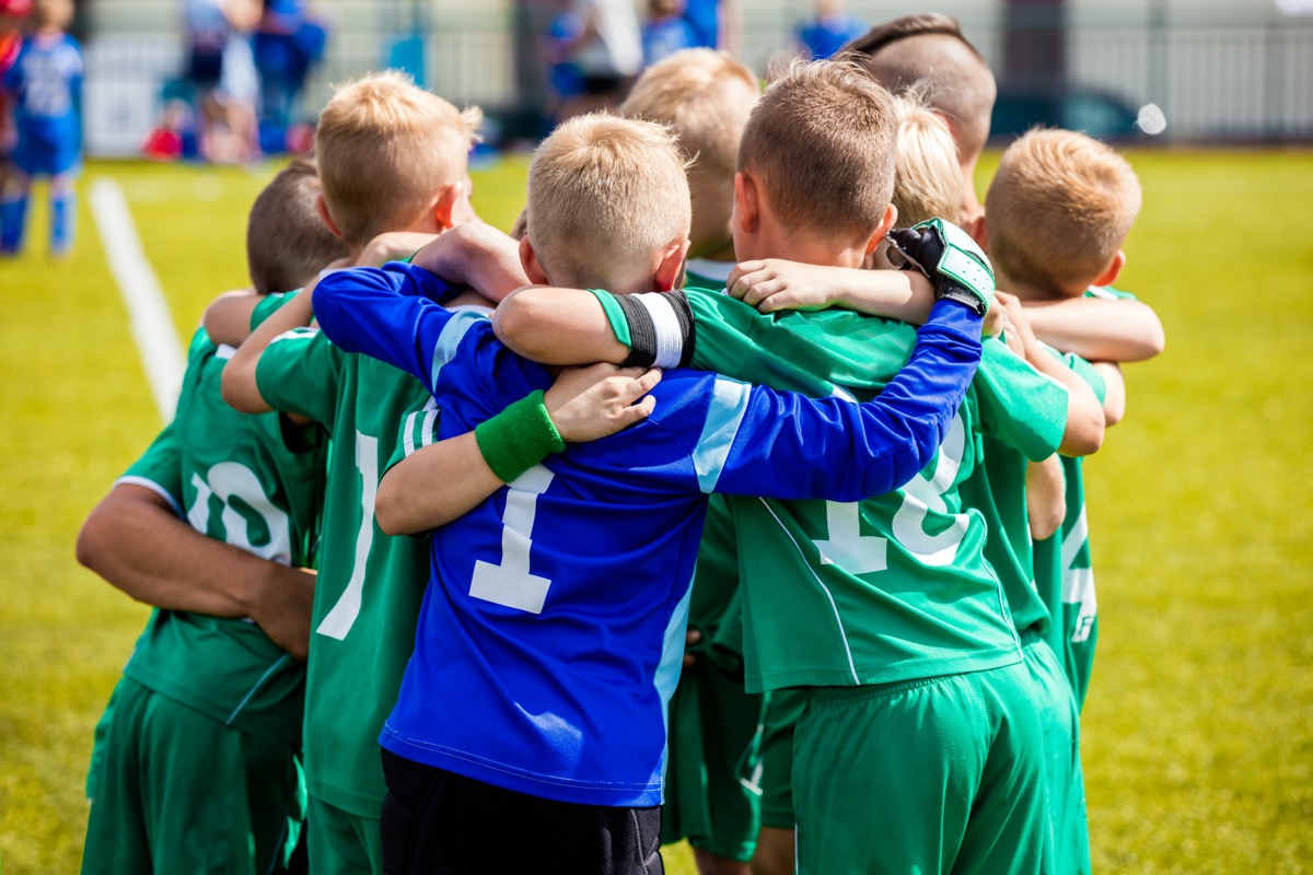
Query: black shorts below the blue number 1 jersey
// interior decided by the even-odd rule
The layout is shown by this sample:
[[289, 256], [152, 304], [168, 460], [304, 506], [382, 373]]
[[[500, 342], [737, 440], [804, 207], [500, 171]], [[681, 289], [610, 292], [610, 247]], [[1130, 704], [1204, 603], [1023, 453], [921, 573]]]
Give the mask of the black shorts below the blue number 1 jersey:
[[385, 875], [662, 875], [660, 807], [541, 799], [383, 750]]

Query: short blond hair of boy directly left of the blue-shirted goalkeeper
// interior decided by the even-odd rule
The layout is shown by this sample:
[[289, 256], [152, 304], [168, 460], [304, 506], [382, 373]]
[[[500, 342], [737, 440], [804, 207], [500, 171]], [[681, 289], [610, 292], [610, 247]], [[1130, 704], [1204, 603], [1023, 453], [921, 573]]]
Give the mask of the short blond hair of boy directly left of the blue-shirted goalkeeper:
[[482, 119], [395, 70], [339, 85], [319, 114], [315, 157], [343, 239], [360, 247], [416, 222], [467, 172]]

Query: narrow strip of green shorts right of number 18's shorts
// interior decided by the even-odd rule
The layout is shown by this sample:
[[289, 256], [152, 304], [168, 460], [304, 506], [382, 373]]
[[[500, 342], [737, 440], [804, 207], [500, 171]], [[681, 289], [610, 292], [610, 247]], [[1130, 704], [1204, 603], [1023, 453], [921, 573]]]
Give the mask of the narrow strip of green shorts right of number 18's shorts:
[[1057, 872], [1090, 872], [1090, 830], [1081, 771], [1081, 716], [1071, 683], [1053, 648], [1036, 632], [1022, 632], [1025, 668], [1040, 693], [1044, 727], [1044, 774]]

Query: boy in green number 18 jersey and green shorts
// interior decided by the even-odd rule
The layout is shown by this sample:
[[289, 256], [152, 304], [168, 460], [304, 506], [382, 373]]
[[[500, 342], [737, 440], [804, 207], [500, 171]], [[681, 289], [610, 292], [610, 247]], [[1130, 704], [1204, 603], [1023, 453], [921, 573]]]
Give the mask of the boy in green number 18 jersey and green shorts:
[[[889, 94], [846, 64], [771, 85], [739, 148], [738, 256], [859, 266], [893, 223], [894, 135]], [[691, 329], [654, 332], [685, 306]], [[659, 354], [815, 396], [878, 391], [913, 331], [843, 311], [767, 316], [699, 290], [626, 302], [530, 289], [503, 307], [500, 335], [534, 358]], [[734, 500], [748, 689], [807, 687], [800, 871], [1032, 871], [1048, 858], [1033, 686], [957, 484], [976, 430], [1043, 459], [1092, 451], [1102, 429], [1077, 378], [1060, 384], [987, 341], [935, 462], [903, 489], [859, 504]]]

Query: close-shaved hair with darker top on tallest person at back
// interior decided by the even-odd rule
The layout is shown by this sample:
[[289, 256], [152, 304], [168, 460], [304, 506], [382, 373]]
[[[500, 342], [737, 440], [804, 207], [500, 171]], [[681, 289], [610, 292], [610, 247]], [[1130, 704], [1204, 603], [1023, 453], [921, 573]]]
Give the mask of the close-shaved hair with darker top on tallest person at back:
[[847, 49], [889, 91], [922, 89], [926, 102], [948, 117], [964, 161], [985, 151], [998, 85], [957, 21], [939, 12], [902, 16]]

